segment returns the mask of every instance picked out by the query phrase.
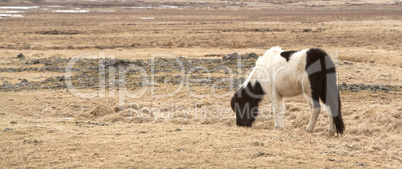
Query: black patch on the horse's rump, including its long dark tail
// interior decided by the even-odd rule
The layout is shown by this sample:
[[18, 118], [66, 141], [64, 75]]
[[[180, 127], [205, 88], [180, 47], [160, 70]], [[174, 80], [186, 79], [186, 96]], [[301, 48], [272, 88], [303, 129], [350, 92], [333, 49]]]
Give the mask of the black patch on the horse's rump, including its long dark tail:
[[321, 101], [331, 109], [337, 133], [343, 134], [345, 126], [341, 115], [341, 100], [336, 85], [335, 64], [325, 51], [312, 48], [307, 51], [306, 72], [311, 85], [314, 107]]

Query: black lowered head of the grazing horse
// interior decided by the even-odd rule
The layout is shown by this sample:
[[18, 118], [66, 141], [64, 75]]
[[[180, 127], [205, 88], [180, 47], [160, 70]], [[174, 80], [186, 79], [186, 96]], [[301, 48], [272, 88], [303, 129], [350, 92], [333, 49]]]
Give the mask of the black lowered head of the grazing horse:
[[264, 90], [258, 81], [254, 84], [248, 82], [236, 91], [230, 101], [230, 106], [236, 113], [236, 124], [238, 126], [251, 127], [258, 115], [258, 104], [263, 95]]

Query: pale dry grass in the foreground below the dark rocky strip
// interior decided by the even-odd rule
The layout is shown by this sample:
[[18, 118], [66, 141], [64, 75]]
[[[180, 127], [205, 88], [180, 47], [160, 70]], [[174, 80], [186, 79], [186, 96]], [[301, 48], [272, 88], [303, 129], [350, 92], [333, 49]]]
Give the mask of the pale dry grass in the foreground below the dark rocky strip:
[[[324, 113], [316, 131], [304, 133], [309, 110], [303, 97], [287, 100], [285, 130], [275, 131], [270, 118], [259, 119], [252, 128], [235, 127], [228, 98], [187, 96], [183, 103], [183, 98], [154, 99], [146, 94], [127, 101], [176, 113], [154, 121], [152, 115], [139, 119], [135, 114], [110, 114], [108, 107], [117, 101], [113, 98], [80, 99], [66, 91], [6, 94], [0, 100], [7, 110], [1, 112], [0, 126], [10, 130], [0, 133], [1, 166], [315, 168], [364, 163], [398, 168], [401, 163], [401, 98], [395, 94], [342, 93], [347, 130], [338, 137], [327, 136]], [[174, 106], [168, 103], [177, 109], [200, 107], [207, 115], [169, 112]], [[268, 100], [263, 106], [269, 107]], [[219, 116], [215, 111], [230, 114]], [[74, 117], [81, 119], [76, 122]]]

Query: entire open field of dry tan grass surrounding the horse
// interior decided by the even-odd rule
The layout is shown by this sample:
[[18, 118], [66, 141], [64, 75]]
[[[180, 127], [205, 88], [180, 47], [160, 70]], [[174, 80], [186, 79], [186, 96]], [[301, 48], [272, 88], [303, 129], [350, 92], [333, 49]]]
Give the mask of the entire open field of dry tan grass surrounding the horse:
[[[0, 167], [399, 168], [390, 2], [0, 2]], [[230, 97], [272, 46], [336, 60], [343, 136], [325, 112], [305, 133], [303, 96], [286, 99], [284, 131], [268, 98], [253, 127], [235, 125]]]

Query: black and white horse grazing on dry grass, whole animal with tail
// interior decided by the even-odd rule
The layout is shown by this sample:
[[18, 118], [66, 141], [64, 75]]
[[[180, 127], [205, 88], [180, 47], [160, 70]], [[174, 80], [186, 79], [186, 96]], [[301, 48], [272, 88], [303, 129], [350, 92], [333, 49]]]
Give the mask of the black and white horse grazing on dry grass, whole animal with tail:
[[343, 134], [341, 100], [336, 84], [335, 65], [327, 53], [311, 48], [300, 51], [269, 49], [256, 61], [247, 80], [231, 99], [238, 126], [251, 127], [264, 95], [271, 99], [275, 129], [283, 130], [284, 97], [303, 94], [310, 104], [307, 132], [313, 132], [320, 113], [321, 100], [329, 117], [329, 134]]

